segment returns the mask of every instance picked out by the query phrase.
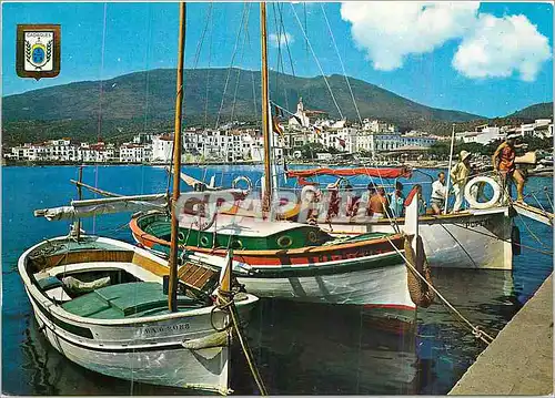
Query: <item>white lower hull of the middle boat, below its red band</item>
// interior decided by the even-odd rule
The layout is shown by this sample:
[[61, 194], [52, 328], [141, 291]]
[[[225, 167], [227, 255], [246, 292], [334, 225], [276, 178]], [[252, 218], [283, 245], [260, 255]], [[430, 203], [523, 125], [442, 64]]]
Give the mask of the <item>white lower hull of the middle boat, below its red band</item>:
[[[195, 253], [195, 258], [221, 266], [221, 257]], [[407, 267], [397, 254], [306, 266], [250, 266], [233, 262], [234, 274], [258, 297], [364, 307], [380, 319], [413, 322], [416, 305], [407, 286]]]

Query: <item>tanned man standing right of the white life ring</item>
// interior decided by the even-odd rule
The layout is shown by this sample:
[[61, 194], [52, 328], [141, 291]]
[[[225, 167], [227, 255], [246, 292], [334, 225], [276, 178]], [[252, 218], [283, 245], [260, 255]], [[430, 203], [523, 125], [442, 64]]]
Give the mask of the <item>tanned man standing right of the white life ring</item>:
[[503, 188], [508, 188], [508, 178], [513, 178], [516, 183], [517, 202], [524, 201], [524, 176], [516, 170], [516, 139], [518, 134], [508, 134], [505, 142], [497, 146], [497, 150], [492, 156], [493, 169], [500, 173]]

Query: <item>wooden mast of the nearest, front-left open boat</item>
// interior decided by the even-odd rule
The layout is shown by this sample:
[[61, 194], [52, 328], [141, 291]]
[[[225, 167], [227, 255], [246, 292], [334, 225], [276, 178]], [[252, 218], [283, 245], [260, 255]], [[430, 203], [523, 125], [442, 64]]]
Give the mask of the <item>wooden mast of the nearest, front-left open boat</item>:
[[180, 194], [181, 172], [181, 112], [183, 103], [183, 58], [185, 50], [185, 2], [179, 3], [179, 44], [178, 44], [178, 82], [175, 98], [175, 129], [173, 132], [173, 194], [171, 200], [171, 245], [170, 245], [170, 283], [168, 307], [178, 310], [178, 232], [179, 221], [175, 205]]

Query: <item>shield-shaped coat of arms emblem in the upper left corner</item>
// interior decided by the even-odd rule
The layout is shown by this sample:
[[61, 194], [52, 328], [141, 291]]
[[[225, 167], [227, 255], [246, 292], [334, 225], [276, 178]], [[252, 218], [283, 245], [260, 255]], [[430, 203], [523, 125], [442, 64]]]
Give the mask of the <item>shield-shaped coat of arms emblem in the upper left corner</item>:
[[18, 25], [17, 71], [37, 80], [60, 73], [60, 25]]

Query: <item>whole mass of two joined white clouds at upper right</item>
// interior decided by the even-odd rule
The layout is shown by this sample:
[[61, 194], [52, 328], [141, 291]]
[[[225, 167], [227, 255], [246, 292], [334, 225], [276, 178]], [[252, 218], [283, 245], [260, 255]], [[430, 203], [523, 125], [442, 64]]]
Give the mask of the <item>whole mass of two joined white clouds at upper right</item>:
[[547, 38], [524, 16], [480, 13], [480, 2], [343, 2], [356, 47], [374, 69], [392, 71], [406, 57], [433, 52], [450, 40], [461, 43], [453, 67], [467, 78], [508, 76], [533, 81], [551, 58]]

